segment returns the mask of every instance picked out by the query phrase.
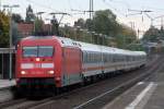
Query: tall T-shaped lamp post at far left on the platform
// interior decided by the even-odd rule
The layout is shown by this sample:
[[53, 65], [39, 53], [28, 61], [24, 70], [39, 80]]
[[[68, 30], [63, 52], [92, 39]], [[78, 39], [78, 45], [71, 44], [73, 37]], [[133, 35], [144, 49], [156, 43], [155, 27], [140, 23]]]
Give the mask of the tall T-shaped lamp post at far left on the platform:
[[10, 19], [10, 72], [9, 72], [9, 78], [10, 81], [12, 80], [12, 9], [13, 8], [19, 8], [20, 5], [19, 4], [13, 4], [13, 5], [3, 5], [3, 8], [8, 8], [10, 10], [9, 12], [9, 19]]

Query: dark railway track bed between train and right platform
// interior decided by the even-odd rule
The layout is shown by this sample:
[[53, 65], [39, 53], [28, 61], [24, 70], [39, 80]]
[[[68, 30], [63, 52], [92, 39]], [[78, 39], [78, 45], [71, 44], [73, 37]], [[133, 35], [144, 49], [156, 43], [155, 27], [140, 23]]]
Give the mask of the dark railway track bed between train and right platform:
[[[154, 64], [157, 61], [159, 63]], [[106, 101], [113, 100], [124, 90], [128, 89], [145, 76], [149, 76], [151, 72], [155, 72], [163, 62], [163, 60], [157, 61], [152, 61], [148, 66], [133, 71], [133, 73], [131, 72], [121, 76], [101, 81], [55, 97], [40, 100], [17, 99], [0, 104], [0, 109], [99, 109]], [[139, 76], [133, 77], [136, 75]]]

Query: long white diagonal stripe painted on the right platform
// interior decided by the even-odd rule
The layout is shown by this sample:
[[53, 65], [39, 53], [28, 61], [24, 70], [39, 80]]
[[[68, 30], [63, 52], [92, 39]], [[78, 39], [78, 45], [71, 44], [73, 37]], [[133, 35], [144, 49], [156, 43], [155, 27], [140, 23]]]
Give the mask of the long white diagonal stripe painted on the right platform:
[[127, 106], [125, 109], [136, 109], [136, 107], [139, 105], [139, 102], [145, 97], [147, 93], [152, 89], [152, 87], [154, 86], [154, 83], [151, 82], [145, 88], [144, 90], [142, 90], [137, 98], [129, 105]]

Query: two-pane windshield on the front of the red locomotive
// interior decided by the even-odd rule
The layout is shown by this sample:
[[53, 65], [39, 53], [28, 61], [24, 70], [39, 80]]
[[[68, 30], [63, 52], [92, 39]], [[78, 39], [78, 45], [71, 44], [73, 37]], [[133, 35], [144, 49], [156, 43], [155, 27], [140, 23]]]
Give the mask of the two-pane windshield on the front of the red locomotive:
[[23, 57], [52, 57], [52, 53], [51, 46], [23, 47]]

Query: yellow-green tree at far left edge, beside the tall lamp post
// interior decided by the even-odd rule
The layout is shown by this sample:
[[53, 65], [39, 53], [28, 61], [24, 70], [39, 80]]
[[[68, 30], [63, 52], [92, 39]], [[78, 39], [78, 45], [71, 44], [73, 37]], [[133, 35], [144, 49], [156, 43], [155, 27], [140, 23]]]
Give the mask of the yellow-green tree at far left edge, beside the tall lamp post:
[[9, 47], [9, 16], [0, 12], [0, 47]]

